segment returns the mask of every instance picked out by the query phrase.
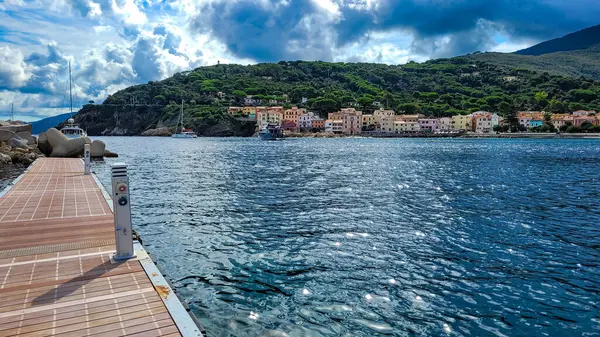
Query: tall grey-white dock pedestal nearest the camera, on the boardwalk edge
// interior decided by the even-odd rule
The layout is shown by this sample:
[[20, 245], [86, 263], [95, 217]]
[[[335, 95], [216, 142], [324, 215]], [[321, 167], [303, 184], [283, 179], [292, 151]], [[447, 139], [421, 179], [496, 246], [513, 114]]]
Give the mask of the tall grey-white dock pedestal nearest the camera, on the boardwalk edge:
[[135, 257], [131, 231], [131, 207], [129, 203], [129, 178], [127, 165], [112, 165], [113, 212], [115, 215], [115, 243], [117, 251], [114, 260], [127, 260]]

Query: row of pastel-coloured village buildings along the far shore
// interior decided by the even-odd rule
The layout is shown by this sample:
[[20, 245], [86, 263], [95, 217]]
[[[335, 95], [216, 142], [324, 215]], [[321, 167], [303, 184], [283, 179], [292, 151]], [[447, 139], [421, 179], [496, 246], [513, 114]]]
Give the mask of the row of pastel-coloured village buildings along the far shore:
[[[340, 135], [489, 134], [507, 122], [498, 114], [487, 111], [433, 118], [422, 114], [396, 114], [396, 111], [384, 108], [363, 113], [349, 107], [330, 112], [327, 119], [295, 106], [289, 109], [283, 106], [232, 106], [227, 111], [235, 117], [255, 120], [259, 128], [274, 124], [291, 133], [325, 132]], [[571, 125], [580, 127], [584, 123], [600, 125], [598, 117], [596, 111], [585, 110], [570, 114], [547, 114], [543, 111], [522, 111], [517, 114], [521, 131], [536, 130], [548, 119], [556, 129]]]

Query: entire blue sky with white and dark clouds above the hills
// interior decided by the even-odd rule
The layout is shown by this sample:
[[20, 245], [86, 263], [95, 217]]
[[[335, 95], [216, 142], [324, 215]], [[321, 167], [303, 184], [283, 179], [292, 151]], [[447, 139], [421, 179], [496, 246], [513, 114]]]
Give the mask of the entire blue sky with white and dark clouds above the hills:
[[220, 63], [404, 64], [512, 52], [600, 23], [599, 0], [0, 0], [0, 119], [77, 111]]

